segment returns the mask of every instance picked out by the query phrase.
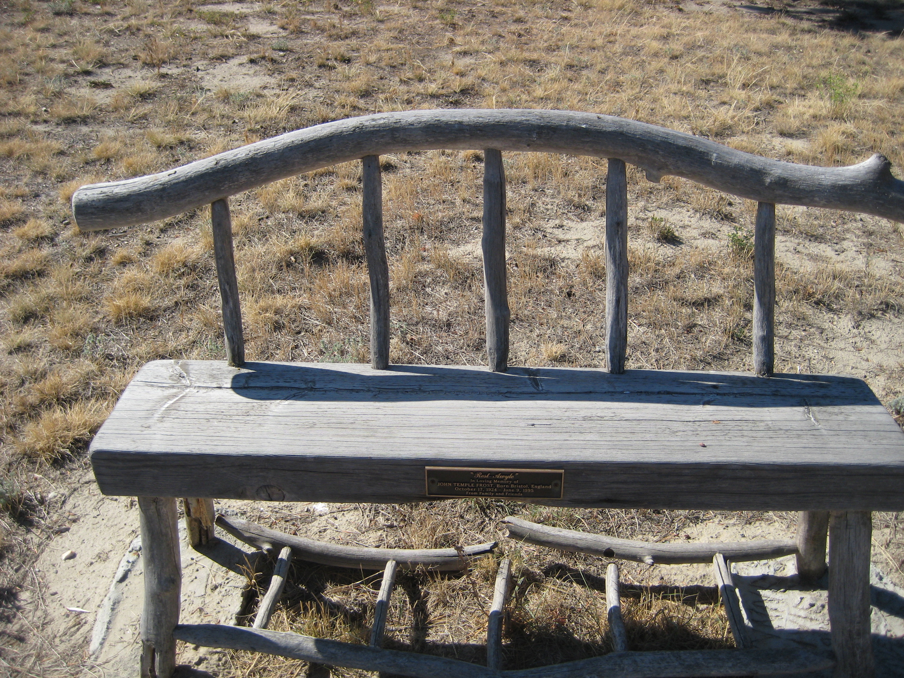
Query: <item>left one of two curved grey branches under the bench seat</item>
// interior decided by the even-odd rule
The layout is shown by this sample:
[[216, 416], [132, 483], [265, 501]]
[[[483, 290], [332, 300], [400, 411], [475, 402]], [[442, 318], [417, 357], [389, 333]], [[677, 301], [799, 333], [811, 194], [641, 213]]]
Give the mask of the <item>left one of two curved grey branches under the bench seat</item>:
[[396, 560], [402, 570], [465, 570], [468, 559], [494, 550], [495, 541], [456, 549], [368, 549], [362, 546], [340, 546], [326, 541], [278, 532], [268, 527], [238, 518], [217, 516], [217, 524], [236, 539], [261, 550], [291, 547], [299, 560], [331, 565], [336, 568], [382, 570], [390, 560]]

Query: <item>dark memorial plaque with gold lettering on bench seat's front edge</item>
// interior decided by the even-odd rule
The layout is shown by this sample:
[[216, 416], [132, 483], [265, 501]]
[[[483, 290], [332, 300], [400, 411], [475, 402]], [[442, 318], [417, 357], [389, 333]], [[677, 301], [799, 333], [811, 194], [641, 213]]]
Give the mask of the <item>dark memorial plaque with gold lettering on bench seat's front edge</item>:
[[565, 471], [427, 466], [427, 496], [561, 499]]

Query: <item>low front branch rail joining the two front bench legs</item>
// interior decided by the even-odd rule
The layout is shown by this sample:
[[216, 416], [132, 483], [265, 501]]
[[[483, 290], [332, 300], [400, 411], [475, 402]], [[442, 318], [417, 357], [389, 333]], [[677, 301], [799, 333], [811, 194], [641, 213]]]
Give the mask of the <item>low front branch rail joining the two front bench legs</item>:
[[700, 678], [782, 675], [829, 668], [833, 662], [804, 650], [689, 650], [622, 652], [578, 662], [515, 671], [493, 669], [432, 654], [383, 650], [337, 640], [217, 624], [181, 625], [175, 637], [202, 647], [250, 650], [364, 671], [413, 678]]

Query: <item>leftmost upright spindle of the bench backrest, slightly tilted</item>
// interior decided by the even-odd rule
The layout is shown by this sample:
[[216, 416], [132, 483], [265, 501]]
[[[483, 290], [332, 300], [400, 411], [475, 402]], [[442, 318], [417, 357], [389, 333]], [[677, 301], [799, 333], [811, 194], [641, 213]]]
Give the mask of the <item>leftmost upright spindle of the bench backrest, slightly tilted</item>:
[[217, 262], [217, 281], [223, 311], [223, 336], [226, 357], [233, 367], [245, 364], [245, 337], [241, 331], [239, 281], [235, 277], [235, 257], [232, 253], [232, 220], [229, 202], [225, 198], [211, 203], [213, 228], [213, 256]]

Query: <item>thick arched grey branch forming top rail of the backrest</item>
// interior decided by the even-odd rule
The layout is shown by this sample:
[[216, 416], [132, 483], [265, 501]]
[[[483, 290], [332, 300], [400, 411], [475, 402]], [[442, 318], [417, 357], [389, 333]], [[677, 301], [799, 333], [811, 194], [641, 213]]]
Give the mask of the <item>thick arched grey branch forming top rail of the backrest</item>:
[[796, 165], [635, 120], [532, 109], [414, 110], [346, 118], [159, 174], [82, 186], [72, 196], [72, 211], [82, 231], [131, 226], [365, 155], [437, 148], [619, 158], [644, 169], [654, 182], [673, 174], [749, 200], [904, 221], [904, 182], [892, 176], [883, 155], [848, 167]]

